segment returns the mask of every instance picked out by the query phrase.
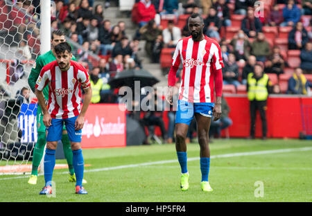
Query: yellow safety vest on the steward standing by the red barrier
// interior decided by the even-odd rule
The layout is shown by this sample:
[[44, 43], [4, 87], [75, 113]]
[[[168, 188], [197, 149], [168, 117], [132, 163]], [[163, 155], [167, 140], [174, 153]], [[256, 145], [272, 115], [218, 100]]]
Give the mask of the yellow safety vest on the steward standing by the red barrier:
[[268, 75], [263, 74], [258, 81], [253, 78], [254, 73], [248, 73], [248, 100], [266, 100], [268, 98]]

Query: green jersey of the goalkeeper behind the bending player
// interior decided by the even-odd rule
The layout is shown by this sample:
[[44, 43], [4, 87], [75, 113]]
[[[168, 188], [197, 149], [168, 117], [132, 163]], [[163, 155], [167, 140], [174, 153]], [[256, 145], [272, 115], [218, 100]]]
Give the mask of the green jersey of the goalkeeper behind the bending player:
[[[31, 74], [29, 75], [29, 78], [28, 78], [28, 84], [31, 87], [31, 90], [33, 92], [35, 92], [35, 85], [36, 85], [37, 79], [40, 75], [42, 68], [46, 64], [49, 64], [50, 62], [53, 62], [55, 60], [56, 60], [56, 58], [55, 58], [54, 54], [52, 53], [52, 51], [46, 52], [46, 53], [39, 55], [37, 57], [37, 60], [36, 60], [35, 64], [33, 65], [33, 68], [31, 69]], [[73, 56], [71, 58], [71, 60], [77, 62], [75, 56]], [[44, 94], [44, 98], [46, 100], [49, 100], [49, 87], [48, 86], [46, 86], [43, 89], [42, 93]]]

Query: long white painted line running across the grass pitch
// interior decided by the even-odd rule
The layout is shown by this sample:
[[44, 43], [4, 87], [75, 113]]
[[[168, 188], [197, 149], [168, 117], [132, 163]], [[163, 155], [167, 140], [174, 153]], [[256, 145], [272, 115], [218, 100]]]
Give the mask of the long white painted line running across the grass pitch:
[[[257, 152], [237, 152], [237, 153], [231, 153], [231, 154], [219, 154], [211, 156], [211, 159], [220, 159], [220, 158], [228, 158], [228, 157], [234, 157], [234, 156], [250, 156], [250, 155], [259, 155], [259, 154], [276, 154], [276, 153], [285, 153], [285, 152], [304, 152], [312, 150], [312, 147], [296, 147], [296, 148], [289, 148], [289, 149], [282, 149], [282, 150], [266, 150], [266, 151], [257, 151]], [[197, 161], [199, 160], [199, 157], [192, 157], [187, 159], [187, 161]], [[140, 166], [146, 166], [146, 165], [157, 165], [157, 164], [165, 164], [165, 163], [177, 163], [177, 159], [175, 160], [167, 160], [167, 161], [153, 161], [153, 162], [146, 162], [146, 163], [137, 163], [137, 164], [129, 164], [129, 165], [119, 165], [114, 166], [110, 168], [98, 168], [98, 169], [91, 169], [91, 170], [85, 170], [85, 172], [101, 172], [101, 171], [107, 171], [107, 170], [120, 170], [125, 168], [137, 168]], [[57, 172], [55, 174], [67, 174], [68, 172]], [[38, 174], [42, 175], [42, 174]], [[28, 178], [28, 176], [22, 176], [22, 177], [8, 177], [8, 178], [0, 178], [1, 180], [10, 180], [10, 179], [22, 179], [22, 178]]]

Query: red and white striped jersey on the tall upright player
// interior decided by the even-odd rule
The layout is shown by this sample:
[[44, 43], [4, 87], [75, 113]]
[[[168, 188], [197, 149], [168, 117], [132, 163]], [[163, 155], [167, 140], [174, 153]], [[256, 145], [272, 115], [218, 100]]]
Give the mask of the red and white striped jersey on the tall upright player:
[[[179, 100], [188, 102], [214, 102], [214, 79], [221, 78], [218, 71], [223, 68], [219, 44], [205, 35], [205, 39], [194, 42], [192, 37], [180, 39], [173, 54], [171, 70], [183, 63]], [[216, 72], [221, 75], [216, 75]], [[169, 86], [172, 86], [169, 80]], [[222, 86], [221, 86], [222, 89]]]

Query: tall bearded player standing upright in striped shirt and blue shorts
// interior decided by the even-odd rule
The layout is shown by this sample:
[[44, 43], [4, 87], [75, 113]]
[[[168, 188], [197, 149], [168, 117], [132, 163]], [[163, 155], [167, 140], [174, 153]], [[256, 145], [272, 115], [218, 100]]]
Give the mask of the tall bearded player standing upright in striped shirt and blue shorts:
[[[198, 143], [200, 144], [201, 188], [212, 191], [209, 185], [209, 127], [211, 118], [218, 120], [221, 114], [223, 60], [219, 44], [202, 33], [204, 22], [199, 14], [193, 14], [188, 21], [191, 36], [180, 39], [173, 54], [168, 74], [168, 95], [166, 100], [173, 104], [172, 91], [180, 63], [183, 64], [182, 82], [175, 116], [175, 149], [181, 166], [181, 190], [189, 189], [187, 170], [187, 145], [185, 138], [191, 120], [196, 118]], [[216, 102], [214, 102], [216, 91]]]

